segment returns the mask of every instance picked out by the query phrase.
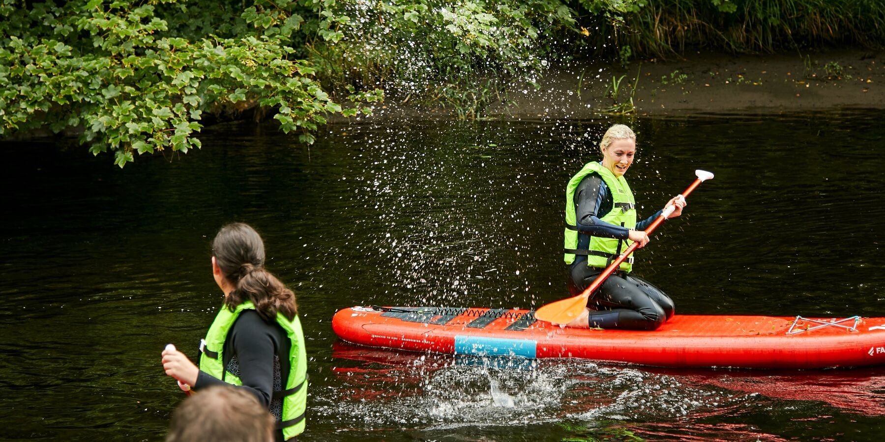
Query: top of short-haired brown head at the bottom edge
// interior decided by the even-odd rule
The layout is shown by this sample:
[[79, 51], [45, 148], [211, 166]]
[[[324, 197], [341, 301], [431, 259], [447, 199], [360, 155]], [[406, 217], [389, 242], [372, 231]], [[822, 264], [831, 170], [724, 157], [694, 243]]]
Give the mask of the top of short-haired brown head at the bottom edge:
[[271, 442], [273, 415], [250, 392], [212, 386], [173, 411], [166, 442]]

